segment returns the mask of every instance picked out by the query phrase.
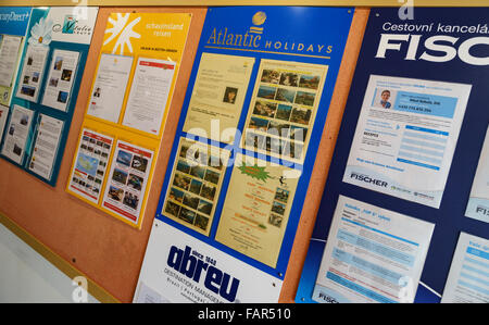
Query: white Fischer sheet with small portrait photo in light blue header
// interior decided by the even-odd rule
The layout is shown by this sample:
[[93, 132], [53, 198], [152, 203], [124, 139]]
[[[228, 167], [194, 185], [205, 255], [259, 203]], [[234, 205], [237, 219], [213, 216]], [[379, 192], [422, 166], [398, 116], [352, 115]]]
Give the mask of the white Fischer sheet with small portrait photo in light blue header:
[[471, 87], [371, 75], [343, 182], [439, 208]]

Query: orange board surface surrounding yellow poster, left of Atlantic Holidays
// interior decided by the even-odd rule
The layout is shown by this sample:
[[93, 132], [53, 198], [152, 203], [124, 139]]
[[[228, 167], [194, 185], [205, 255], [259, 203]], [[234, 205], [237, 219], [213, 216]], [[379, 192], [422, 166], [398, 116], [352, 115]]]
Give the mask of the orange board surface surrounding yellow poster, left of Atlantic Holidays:
[[[102, 48], [106, 21], [111, 13], [191, 13], [189, 34], [175, 91], [170, 105], [163, 138], [173, 138], [190, 76], [193, 57], [203, 25], [204, 8], [102, 8], [95, 26], [93, 38], [83, 73], [72, 127], [68, 130], [64, 159], [60, 165], [55, 187], [22, 172], [13, 164], [0, 161], [0, 210], [30, 236], [65, 260], [84, 276], [103, 287], [116, 300], [133, 299], [153, 215], [162, 186], [171, 142], [162, 141], [153, 183], [149, 189], [148, 204], [141, 230], [137, 230], [106, 213], [75, 198], [65, 190], [71, 175], [72, 159], [88, 105], [92, 77]], [[28, 203], [26, 203], [28, 202]], [[117, 276], [114, 276], [116, 274]], [[90, 291], [90, 287], [88, 288]]]

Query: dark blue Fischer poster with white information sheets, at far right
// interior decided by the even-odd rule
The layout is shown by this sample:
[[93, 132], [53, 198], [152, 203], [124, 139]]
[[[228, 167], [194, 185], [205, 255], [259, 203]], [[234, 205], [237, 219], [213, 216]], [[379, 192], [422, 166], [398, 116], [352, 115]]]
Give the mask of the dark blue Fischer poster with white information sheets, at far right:
[[489, 122], [489, 10], [410, 10], [371, 11], [297, 302], [439, 302], [459, 234], [489, 234], [464, 217]]

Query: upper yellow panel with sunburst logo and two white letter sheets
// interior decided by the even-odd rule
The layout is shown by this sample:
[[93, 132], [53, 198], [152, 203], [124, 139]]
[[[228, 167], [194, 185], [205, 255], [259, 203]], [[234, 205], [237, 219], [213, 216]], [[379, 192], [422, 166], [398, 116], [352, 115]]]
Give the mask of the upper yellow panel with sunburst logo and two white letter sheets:
[[87, 114], [161, 136], [191, 15], [112, 13]]

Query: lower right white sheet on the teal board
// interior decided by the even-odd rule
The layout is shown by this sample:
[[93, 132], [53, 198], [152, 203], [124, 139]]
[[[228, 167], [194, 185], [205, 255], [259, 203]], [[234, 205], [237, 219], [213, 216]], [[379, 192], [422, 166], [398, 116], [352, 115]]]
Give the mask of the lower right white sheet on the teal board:
[[40, 114], [37, 138], [30, 158], [29, 171], [51, 179], [52, 166], [57, 158], [63, 121]]

